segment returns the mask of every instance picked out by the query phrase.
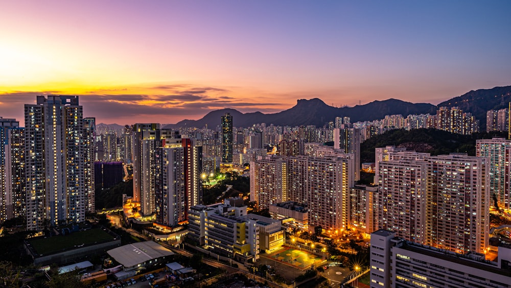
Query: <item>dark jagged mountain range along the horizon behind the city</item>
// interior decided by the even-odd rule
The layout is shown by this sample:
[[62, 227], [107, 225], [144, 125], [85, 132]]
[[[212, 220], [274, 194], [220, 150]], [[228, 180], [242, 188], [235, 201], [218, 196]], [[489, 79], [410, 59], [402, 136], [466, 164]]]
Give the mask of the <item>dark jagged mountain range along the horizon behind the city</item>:
[[479, 120], [481, 130], [486, 127], [486, 112], [491, 109], [507, 108], [511, 101], [511, 86], [494, 87], [492, 89], [479, 89], [470, 91], [461, 96], [451, 98], [438, 105], [428, 103], [410, 103], [398, 99], [373, 101], [354, 107], [332, 107], [318, 98], [300, 99], [290, 109], [273, 114], [261, 112], [241, 113], [235, 109], [219, 109], [206, 114], [199, 120], [182, 120], [176, 124], [166, 125], [166, 128], [219, 126], [220, 118], [225, 113], [233, 116], [236, 127], [249, 127], [253, 124], [266, 123], [276, 126], [315, 125], [322, 127], [335, 117], [350, 117], [351, 122], [372, 121], [385, 118], [385, 115], [401, 114], [404, 117], [410, 114], [436, 114], [439, 107], [457, 106], [463, 112], [470, 112]]

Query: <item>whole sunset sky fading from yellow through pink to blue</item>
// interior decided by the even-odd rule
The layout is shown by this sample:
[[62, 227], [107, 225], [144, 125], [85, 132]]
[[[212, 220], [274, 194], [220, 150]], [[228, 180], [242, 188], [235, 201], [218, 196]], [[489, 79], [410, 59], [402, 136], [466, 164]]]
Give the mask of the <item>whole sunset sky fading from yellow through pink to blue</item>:
[[80, 96], [97, 123], [176, 123], [511, 85], [511, 1], [0, 1], [0, 117]]

